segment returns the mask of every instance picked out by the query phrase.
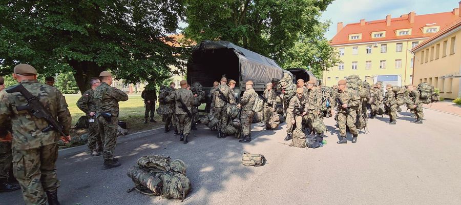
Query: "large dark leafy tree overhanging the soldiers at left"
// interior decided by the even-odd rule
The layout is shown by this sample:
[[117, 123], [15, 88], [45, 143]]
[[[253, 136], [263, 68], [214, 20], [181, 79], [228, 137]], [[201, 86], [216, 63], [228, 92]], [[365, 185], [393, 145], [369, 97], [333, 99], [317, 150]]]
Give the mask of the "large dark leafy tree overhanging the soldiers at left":
[[171, 45], [183, 0], [10, 1], [0, 5], [0, 74], [28, 63], [40, 74], [72, 71], [81, 92], [111, 70], [129, 83], [157, 81], [181, 69]]

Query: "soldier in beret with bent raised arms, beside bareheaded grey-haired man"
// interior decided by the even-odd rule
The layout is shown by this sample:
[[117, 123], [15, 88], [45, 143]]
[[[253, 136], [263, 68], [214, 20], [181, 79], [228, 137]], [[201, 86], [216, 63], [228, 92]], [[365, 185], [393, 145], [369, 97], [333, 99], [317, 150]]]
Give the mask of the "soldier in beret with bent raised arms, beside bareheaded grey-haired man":
[[103, 169], [111, 169], [120, 166], [118, 159], [114, 158], [115, 144], [117, 144], [117, 128], [119, 101], [127, 101], [128, 95], [121, 90], [111, 87], [112, 74], [102, 71], [99, 74], [101, 85], [94, 91], [96, 101], [96, 120], [99, 134], [104, 141]]

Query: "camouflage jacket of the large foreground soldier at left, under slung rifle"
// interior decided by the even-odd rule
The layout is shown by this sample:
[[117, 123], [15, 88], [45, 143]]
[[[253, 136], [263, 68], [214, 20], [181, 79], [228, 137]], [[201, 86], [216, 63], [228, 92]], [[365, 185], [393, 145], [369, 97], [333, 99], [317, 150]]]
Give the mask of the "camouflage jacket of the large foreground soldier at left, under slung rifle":
[[[37, 80], [23, 80], [20, 82], [33, 96], [37, 97], [51, 115], [62, 125], [64, 134], [69, 135], [72, 117], [69, 113], [66, 99], [57, 88], [39, 83]], [[28, 111], [16, 110], [17, 106], [27, 105], [27, 100], [20, 93], [0, 92], [0, 130], [8, 129], [10, 120], [13, 124], [12, 147], [15, 150], [28, 150], [56, 143], [60, 134], [50, 130], [41, 130], [48, 127], [44, 118], [36, 118]]]

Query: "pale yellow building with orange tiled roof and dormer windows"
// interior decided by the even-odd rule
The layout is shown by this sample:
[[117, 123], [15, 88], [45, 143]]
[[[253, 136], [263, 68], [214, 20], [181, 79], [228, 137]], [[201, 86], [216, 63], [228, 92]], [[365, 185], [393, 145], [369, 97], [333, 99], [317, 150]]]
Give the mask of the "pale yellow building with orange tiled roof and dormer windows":
[[324, 71], [323, 84], [336, 85], [338, 80], [352, 74], [369, 83], [395, 80], [395, 85], [410, 84], [414, 60], [411, 49], [458, 17], [459, 8], [455, 8], [451, 12], [426, 15], [410, 12], [397, 18], [387, 15], [385, 19], [370, 22], [361, 19], [360, 23], [345, 27], [338, 23], [330, 46], [338, 50], [341, 61]]

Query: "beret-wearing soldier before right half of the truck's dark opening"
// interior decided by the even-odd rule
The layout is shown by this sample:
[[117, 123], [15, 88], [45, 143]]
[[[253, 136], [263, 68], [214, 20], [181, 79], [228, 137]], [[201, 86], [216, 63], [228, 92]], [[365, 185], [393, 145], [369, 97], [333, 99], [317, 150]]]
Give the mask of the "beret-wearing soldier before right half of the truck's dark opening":
[[214, 93], [214, 115], [219, 120], [218, 138], [226, 137], [221, 133], [222, 126], [227, 125], [226, 109], [224, 109], [224, 107], [227, 104], [235, 103], [234, 92], [226, 83], [227, 79], [225, 77], [221, 78], [221, 85], [216, 88]]

